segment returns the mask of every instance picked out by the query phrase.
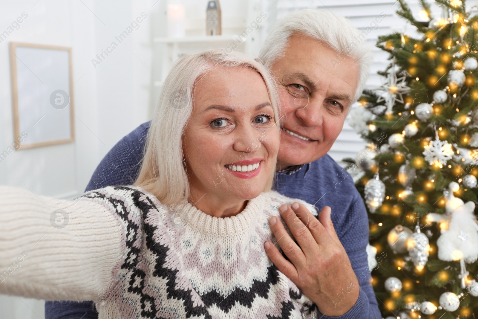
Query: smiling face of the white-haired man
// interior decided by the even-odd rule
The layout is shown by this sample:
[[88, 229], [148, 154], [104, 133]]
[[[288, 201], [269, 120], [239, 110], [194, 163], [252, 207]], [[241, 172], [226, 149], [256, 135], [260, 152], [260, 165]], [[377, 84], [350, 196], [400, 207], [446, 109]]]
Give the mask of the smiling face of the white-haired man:
[[330, 150], [359, 84], [357, 61], [311, 37], [291, 36], [284, 53], [271, 67], [283, 107], [278, 169], [313, 162]]

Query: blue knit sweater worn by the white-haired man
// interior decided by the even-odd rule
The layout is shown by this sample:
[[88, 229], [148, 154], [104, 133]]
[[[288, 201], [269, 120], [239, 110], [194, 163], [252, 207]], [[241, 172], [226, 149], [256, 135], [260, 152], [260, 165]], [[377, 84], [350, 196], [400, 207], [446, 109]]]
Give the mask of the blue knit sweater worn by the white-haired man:
[[[113, 185], [131, 185], [139, 173], [150, 122], [141, 124], [120, 140], [98, 165], [86, 191]], [[277, 172], [275, 189], [291, 198], [300, 198], [320, 211], [332, 209], [331, 219], [359, 280], [359, 299], [343, 316], [320, 319], [381, 319], [377, 299], [370, 284], [366, 246], [369, 222], [362, 198], [352, 178], [329, 155], [298, 169]], [[331, 296], [334, 303], [350, 291]], [[93, 302], [45, 302], [45, 319], [97, 319]]]

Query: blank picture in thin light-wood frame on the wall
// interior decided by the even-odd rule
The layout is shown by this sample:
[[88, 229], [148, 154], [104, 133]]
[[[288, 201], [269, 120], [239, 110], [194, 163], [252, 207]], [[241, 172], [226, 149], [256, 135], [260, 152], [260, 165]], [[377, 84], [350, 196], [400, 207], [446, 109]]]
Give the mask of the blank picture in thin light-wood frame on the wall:
[[10, 68], [19, 149], [73, 142], [71, 48], [11, 42]]

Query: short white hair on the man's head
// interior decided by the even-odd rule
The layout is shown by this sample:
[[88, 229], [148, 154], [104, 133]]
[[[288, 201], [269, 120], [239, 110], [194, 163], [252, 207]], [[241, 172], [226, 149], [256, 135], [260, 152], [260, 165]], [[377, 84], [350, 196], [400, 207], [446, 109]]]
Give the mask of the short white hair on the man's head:
[[271, 67], [274, 61], [284, 55], [289, 38], [295, 33], [310, 36], [337, 51], [337, 59], [330, 61], [334, 66], [345, 57], [357, 61], [359, 85], [354, 102], [359, 99], [373, 61], [372, 47], [365, 43], [367, 32], [360, 33], [348, 19], [330, 11], [294, 11], [277, 21], [272, 28], [259, 53], [261, 63]]

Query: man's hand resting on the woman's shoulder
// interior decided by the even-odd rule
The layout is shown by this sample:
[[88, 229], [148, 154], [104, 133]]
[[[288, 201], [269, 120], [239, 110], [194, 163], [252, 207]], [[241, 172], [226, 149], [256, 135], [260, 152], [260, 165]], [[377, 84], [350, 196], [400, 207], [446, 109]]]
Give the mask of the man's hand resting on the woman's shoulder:
[[271, 217], [271, 229], [290, 262], [272, 242], [265, 242], [269, 258], [322, 314], [341, 316], [347, 313], [359, 298], [359, 281], [335, 232], [330, 207], [321, 210], [318, 220], [299, 203], [293, 203], [292, 207], [282, 205], [279, 210], [297, 243], [282, 222]]

